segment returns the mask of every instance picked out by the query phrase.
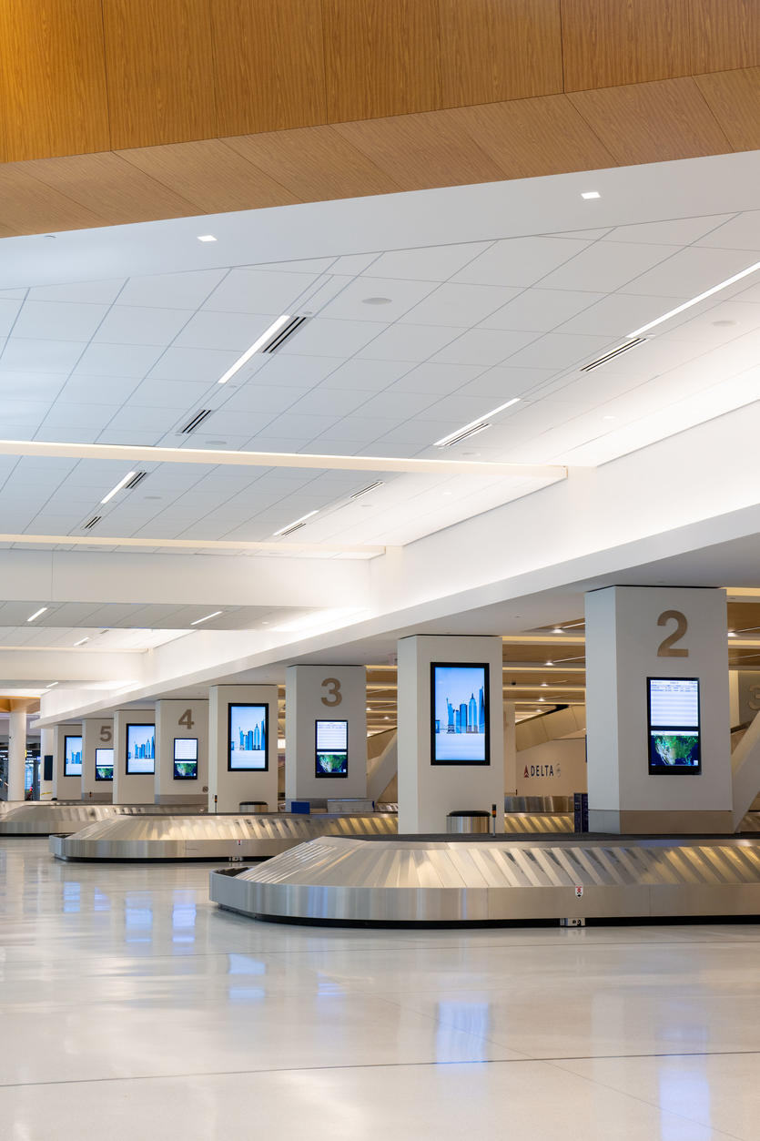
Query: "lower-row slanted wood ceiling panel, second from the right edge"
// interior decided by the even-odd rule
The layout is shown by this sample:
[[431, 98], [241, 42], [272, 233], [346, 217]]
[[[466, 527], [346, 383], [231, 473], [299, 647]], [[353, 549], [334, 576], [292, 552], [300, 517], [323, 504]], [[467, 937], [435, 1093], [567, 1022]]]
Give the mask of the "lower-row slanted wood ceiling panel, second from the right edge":
[[620, 163], [664, 162], [731, 151], [690, 78], [576, 91], [569, 98]]

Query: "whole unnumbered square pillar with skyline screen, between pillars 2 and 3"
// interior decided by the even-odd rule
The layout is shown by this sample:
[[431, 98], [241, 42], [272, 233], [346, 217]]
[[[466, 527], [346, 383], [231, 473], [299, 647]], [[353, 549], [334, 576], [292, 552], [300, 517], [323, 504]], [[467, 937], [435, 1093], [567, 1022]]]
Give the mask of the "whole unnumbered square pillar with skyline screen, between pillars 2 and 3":
[[[485, 666], [484, 693], [487, 728], [485, 741], [474, 731], [468, 737], [470, 702], [476, 703], [479, 722], [479, 689], [476, 674], [454, 675], [448, 695], [452, 733], [446, 711], [432, 707], [431, 665]], [[464, 685], [467, 682], [467, 685]], [[470, 683], [471, 682], [471, 683]], [[462, 689], [469, 691], [466, 693]], [[461, 693], [460, 693], [461, 689]], [[487, 703], [485, 698], [487, 696]], [[496, 831], [504, 831], [504, 727], [502, 710], [501, 638], [438, 637], [415, 634], [398, 642], [398, 831], [399, 833], [445, 833], [446, 816], [456, 810], [491, 811], [496, 806]], [[461, 707], [466, 706], [464, 714]], [[459, 717], [459, 728], [456, 728]], [[462, 718], [467, 721], [464, 733]], [[438, 734], [436, 735], [436, 720]], [[479, 728], [479, 725], [478, 725]], [[434, 742], [439, 755], [462, 754], [453, 761], [434, 763]], [[460, 739], [461, 738], [461, 739]], [[444, 747], [444, 746], [450, 747]], [[477, 758], [485, 746], [487, 762]], [[468, 755], [469, 754], [469, 755]]]

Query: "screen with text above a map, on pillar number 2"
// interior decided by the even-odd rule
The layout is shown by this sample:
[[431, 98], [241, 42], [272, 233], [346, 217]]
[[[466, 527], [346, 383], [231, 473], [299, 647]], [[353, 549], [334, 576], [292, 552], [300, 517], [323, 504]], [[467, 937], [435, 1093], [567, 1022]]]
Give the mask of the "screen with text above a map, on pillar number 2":
[[649, 772], [701, 772], [698, 678], [647, 678]]

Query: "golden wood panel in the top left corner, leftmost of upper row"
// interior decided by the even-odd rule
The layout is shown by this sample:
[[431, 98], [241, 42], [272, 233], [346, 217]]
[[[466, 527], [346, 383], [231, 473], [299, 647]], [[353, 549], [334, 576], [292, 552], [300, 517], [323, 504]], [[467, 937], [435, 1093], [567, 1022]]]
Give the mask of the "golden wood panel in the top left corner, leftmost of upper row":
[[100, 0], [2, 0], [0, 159], [108, 145]]

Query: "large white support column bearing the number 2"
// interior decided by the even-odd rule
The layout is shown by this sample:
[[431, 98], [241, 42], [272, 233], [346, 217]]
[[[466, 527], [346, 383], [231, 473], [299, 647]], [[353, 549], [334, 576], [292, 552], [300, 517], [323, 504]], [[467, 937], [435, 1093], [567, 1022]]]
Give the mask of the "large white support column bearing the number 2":
[[[592, 832], [731, 831], [726, 594], [609, 586], [585, 600], [589, 827]], [[657, 764], [647, 679], [697, 679], [701, 771]], [[666, 736], [666, 735], [661, 735]]]

